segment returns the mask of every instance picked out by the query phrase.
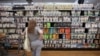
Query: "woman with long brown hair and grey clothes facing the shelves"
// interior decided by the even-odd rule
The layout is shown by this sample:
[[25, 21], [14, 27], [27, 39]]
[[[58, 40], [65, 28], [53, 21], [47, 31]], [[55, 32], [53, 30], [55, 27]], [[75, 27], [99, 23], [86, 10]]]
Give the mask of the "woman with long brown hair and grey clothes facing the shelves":
[[41, 48], [43, 47], [43, 32], [39, 27], [36, 26], [35, 20], [30, 20], [28, 22], [27, 32], [32, 48], [32, 55], [40, 56]]

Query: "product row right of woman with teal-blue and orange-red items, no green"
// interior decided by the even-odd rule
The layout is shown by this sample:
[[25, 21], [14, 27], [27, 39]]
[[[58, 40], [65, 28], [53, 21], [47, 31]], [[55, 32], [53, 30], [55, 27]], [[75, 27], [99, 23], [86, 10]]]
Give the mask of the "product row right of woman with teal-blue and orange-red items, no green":
[[43, 29], [44, 34], [68, 34], [68, 33], [76, 33], [76, 34], [83, 34], [83, 33], [91, 33], [96, 34], [99, 29], [97, 28], [45, 28]]

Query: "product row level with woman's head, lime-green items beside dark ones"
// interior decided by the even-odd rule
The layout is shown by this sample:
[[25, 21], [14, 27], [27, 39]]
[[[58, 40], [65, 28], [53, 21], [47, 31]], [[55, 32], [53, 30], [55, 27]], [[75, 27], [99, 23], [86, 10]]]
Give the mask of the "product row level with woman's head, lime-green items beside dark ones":
[[[98, 23], [70, 23], [70, 22], [61, 22], [61, 23], [38, 23], [37, 26], [41, 28], [100, 28], [100, 24]], [[0, 28], [25, 28], [27, 27], [27, 23], [0, 23]]]

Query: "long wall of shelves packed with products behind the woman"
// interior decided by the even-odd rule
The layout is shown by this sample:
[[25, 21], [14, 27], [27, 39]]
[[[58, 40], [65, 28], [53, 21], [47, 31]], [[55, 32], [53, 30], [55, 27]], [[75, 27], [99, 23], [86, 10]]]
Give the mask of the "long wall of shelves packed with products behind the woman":
[[[15, 29], [13, 33], [20, 34], [29, 20], [36, 20], [44, 31], [43, 49], [100, 49], [100, 10], [93, 9], [92, 4], [43, 3], [0, 8], [0, 22], [12, 18], [12, 24], [18, 23], [5, 26], [7, 30]], [[0, 24], [0, 31], [3, 28], [5, 32], [1, 26], [4, 24]]]

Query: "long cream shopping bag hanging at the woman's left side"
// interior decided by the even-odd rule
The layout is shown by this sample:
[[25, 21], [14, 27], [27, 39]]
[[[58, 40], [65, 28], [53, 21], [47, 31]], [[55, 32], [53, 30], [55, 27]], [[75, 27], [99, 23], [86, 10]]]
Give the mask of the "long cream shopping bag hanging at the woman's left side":
[[25, 29], [25, 40], [24, 40], [24, 45], [23, 48], [25, 51], [31, 52], [31, 46], [30, 46], [30, 41], [28, 38], [28, 33], [27, 33], [27, 28]]

